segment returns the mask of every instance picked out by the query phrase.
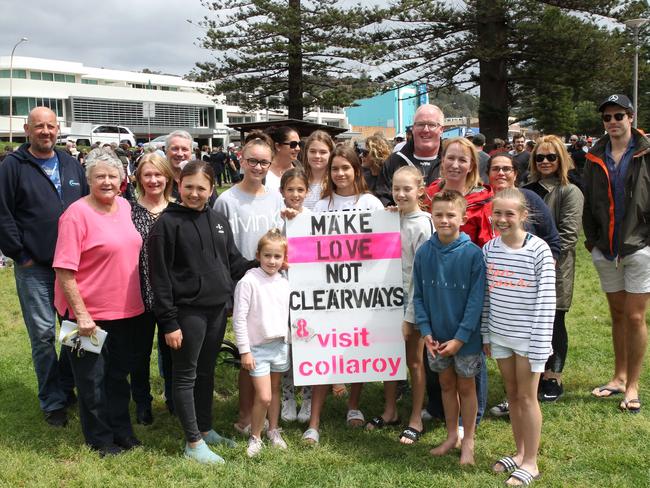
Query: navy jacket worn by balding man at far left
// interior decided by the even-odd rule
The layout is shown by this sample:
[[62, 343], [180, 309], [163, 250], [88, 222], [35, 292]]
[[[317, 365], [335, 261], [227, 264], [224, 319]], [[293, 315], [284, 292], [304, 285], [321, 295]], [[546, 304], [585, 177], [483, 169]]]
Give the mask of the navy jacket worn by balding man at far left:
[[62, 197], [29, 151], [29, 143], [0, 164], [0, 249], [22, 264], [29, 259], [52, 265], [59, 217], [88, 194], [84, 170], [75, 158], [55, 149], [59, 157]]

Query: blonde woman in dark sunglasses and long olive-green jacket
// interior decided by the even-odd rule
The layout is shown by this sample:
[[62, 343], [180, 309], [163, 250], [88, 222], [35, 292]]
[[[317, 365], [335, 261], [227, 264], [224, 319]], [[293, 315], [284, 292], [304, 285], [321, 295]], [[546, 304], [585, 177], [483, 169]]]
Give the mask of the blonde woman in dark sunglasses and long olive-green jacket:
[[582, 223], [584, 197], [569, 182], [573, 161], [566, 146], [557, 136], [544, 136], [537, 141], [530, 156], [531, 183], [526, 188], [544, 199], [560, 234], [560, 258], [556, 266], [555, 292], [557, 304], [553, 324], [553, 355], [546, 363], [540, 380], [539, 400], [554, 402], [564, 393], [562, 370], [569, 340], [564, 317], [573, 298], [576, 244]]

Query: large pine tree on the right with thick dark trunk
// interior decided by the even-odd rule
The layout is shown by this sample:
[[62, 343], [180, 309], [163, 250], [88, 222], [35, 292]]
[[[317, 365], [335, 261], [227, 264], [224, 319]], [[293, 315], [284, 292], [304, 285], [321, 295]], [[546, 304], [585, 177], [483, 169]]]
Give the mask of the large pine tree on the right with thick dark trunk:
[[535, 99], [540, 85], [551, 86], [543, 96], [564, 87], [557, 94], [568, 102], [629, 80], [631, 58], [607, 22], [640, 9], [627, 0], [395, 0], [387, 28], [375, 35], [386, 49], [382, 81], [479, 88], [481, 131], [504, 137], [513, 109], [533, 116], [549, 106]]

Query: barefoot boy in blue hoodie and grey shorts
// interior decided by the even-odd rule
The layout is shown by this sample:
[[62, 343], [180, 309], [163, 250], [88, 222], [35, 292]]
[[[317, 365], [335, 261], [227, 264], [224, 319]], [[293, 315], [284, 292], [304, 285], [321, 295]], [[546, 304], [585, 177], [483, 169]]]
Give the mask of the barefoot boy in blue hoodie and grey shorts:
[[[439, 374], [447, 439], [431, 450], [442, 456], [457, 447], [458, 417], [475, 419], [474, 377], [481, 369], [480, 320], [485, 293], [481, 249], [460, 232], [466, 202], [455, 190], [433, 197], [435, 234], [415, 254], [413, 304], [429, 366]], [[460, 401], [459, 401], [460, 400]], [[460, 464], [474, 464], [474, 422], [465, 422]]]

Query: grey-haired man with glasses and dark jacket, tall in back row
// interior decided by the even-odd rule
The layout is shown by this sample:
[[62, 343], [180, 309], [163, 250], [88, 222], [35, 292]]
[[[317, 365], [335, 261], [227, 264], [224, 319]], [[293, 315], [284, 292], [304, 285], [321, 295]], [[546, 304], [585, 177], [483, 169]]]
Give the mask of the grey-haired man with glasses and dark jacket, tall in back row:
[[393, 173], [402, 166], [415, 166], [424, 176], [425, 185], [440, 173], [440, 137], [444, 130], [445, 115], [435, 105], [420, 105], [413, 117], [413, 139], [392, 153], [384, 163], [377, 179], [376, 194], [384, 205], [393, 205]]

